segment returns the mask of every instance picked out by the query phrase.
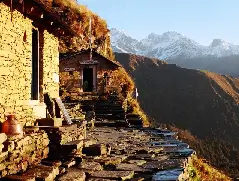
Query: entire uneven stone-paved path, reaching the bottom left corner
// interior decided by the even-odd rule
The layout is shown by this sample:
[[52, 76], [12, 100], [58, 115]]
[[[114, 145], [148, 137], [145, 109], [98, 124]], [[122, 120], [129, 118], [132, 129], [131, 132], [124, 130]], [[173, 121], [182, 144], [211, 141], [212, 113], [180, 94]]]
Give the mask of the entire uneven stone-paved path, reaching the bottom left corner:
[[[43, 160], [11, 181], [173, 181], [183, 174], [194, 152], [168, 130], [95, 127], [87, 139], [66, 145], [81, 150], [60, 160]], [[79, 147], [79, 148], [78, 148]]]

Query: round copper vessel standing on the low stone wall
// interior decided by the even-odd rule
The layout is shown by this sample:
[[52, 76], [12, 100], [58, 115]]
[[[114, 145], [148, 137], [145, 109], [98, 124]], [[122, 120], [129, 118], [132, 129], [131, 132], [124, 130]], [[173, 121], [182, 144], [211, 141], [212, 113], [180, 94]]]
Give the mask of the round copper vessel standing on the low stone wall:
[[2, 133], [7, 135], [23, 135], [22, 125], [16, 120], [14, 114], [6, 115], [6, 121], [2, 124]]

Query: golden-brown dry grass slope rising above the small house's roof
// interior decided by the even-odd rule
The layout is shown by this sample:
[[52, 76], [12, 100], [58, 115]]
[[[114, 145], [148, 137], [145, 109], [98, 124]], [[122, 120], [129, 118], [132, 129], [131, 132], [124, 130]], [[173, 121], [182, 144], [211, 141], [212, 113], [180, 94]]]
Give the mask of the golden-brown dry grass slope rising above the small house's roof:
[[[109, 29], [105, 20], [74, 0], [33, 0], [67, 26], [75, 37], [61, 37], [61, 50], [78, 51], [89, 47], [90, 18], [92, 20], [92, 46], [101, 48], [102, 54], [113, 59], [110, 48]], [[107, 44], [107, 46], [105, 45]]]

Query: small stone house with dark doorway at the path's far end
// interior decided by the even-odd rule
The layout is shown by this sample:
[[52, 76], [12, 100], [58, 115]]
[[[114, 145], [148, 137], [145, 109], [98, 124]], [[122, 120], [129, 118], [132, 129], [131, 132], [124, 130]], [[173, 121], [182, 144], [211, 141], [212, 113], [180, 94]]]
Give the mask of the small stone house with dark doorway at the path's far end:
[[[101, 94], [110, 86], [110, 77], [121, 65], [90, 49], [60, 55], [60, 86], [72, 94]], [[90, 58], [90, 54], [92, 58]]]

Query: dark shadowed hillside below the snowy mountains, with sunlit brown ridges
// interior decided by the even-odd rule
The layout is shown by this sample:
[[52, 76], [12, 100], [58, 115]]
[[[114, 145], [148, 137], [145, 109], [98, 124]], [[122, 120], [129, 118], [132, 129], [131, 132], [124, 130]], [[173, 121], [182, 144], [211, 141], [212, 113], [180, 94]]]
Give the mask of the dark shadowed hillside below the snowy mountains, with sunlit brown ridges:
[[239, 79], [116, 53], [135, 80], [142, 109], [179, 132], [197, 154], [230, 176], [239, 173]]

